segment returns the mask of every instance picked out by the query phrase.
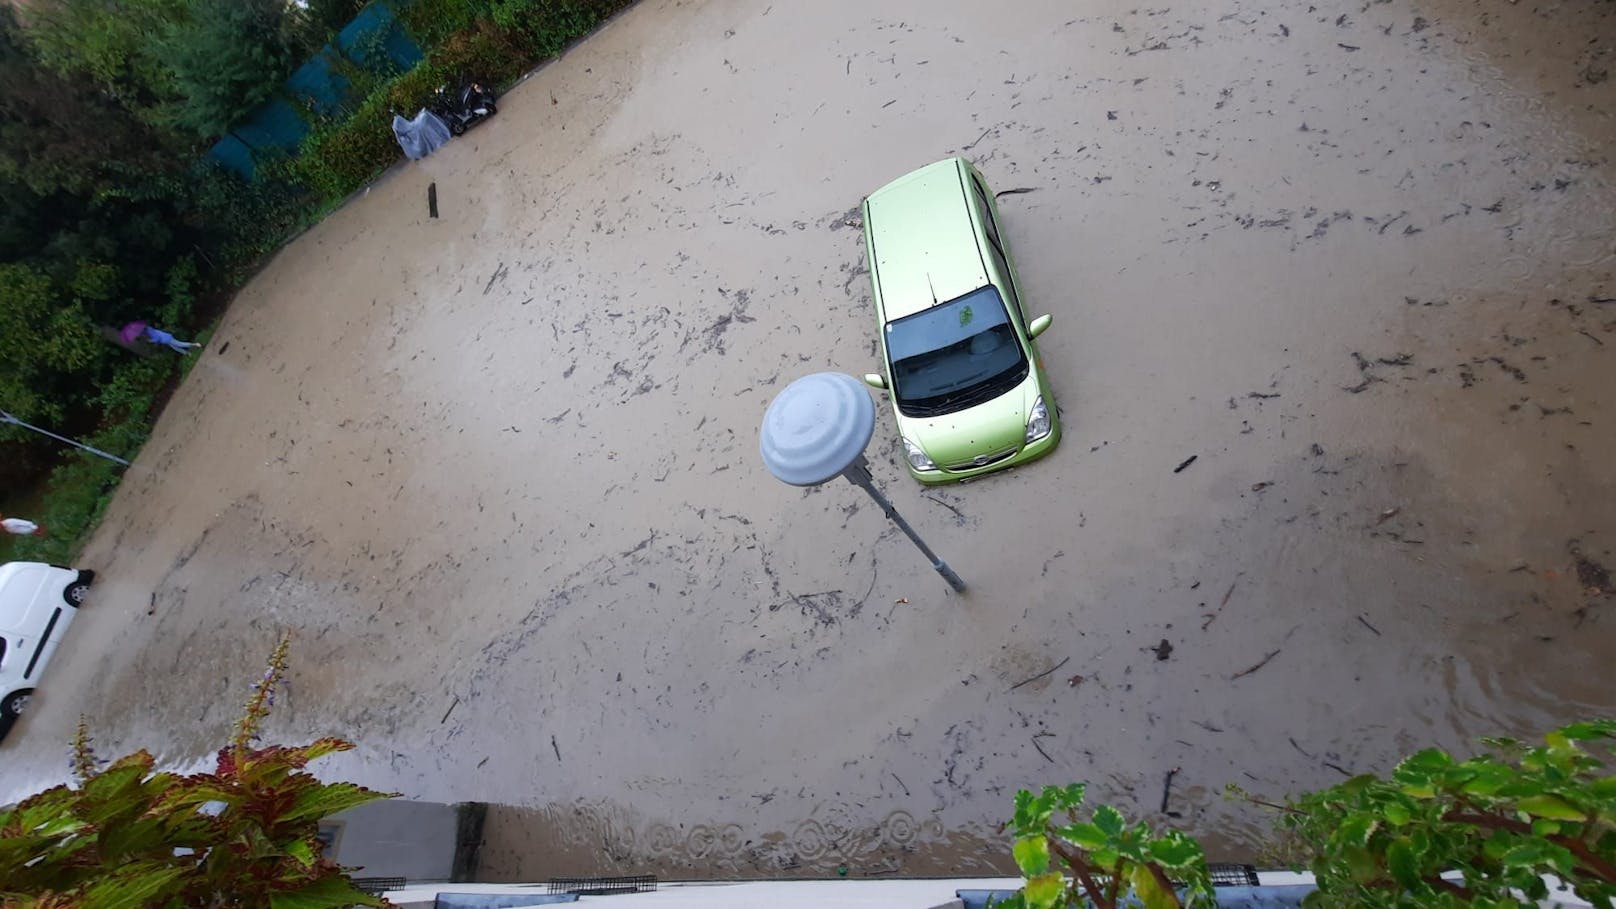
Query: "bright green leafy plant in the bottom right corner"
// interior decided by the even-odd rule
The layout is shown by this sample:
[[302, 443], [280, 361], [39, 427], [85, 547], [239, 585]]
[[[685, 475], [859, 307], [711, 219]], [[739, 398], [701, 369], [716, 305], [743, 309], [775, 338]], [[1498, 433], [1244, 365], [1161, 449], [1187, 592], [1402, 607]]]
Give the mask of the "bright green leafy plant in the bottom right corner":
[[1427, 749], [1387, 780], [1354, 776], [1270, 807], [1314, 856], [1314, 906], [1535, 906], [1543, 875], [1610, 906], [1616, 778], [1589, 746], [1611, 739], [1616, 721], [1595, 720], [1535, 747], [1485, 739], [1490, 750], [1469, 760]]

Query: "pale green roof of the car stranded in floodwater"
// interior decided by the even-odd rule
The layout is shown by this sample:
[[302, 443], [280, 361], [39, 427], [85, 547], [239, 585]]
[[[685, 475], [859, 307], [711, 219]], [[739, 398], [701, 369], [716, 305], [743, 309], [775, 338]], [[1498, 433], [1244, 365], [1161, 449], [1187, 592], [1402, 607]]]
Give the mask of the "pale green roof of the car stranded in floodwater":
[[865, 199], [869, 264], [889, 322], [987, 285], [965, 189], [966, 165], [944, 159]]

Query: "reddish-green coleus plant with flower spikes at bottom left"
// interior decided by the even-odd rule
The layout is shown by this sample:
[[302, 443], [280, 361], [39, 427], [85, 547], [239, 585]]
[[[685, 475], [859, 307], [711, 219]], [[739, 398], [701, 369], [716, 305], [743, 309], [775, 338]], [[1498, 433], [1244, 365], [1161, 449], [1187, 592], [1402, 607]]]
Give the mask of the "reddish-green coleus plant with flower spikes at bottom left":
[[322, 856], [315, 836], [320, 818], [388, 797], [304, 772], [310, 760], [352, 746], [254, 744], [281, 684], [286, 649], [281, 639], [213, 773], [165, 773], [145, 750], [99, 767], [81, 721], [73, 742], [78, 788], [57, 786], [0, 810], [0, 904], [381, 906]]

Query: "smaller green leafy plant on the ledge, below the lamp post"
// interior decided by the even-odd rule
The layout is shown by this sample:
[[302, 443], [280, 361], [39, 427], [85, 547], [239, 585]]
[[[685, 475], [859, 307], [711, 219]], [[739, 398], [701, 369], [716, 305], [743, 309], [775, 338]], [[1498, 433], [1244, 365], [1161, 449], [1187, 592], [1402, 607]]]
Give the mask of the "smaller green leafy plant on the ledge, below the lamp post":
[[[1143, 822], [1130, 825], [1110, 805], [1081, 820], [1084, 794], [1083, 783], [1044, 786], [1036, 796], [1016, 793], [1008, 825], [1016, 836], [1012, 854], [1028, 882], [1007, 906], [1065, 909], [1088, 899], [1097, 909], [1133, 901], [1146, 909], [1170, 909], [1215, 903], [1199, 843], [1176, 830], [1157, 835]], [[1057, 815], [1065, 823], [1057, 823]], [[1050, 867], [1057, 857], [1071, 880]]]

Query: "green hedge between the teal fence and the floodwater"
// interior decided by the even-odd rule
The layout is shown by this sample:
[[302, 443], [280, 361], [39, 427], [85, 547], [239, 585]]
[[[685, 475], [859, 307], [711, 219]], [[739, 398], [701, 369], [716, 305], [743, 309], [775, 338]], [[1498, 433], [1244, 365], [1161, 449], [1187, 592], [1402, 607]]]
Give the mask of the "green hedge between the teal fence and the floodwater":
[[[320, 125], [302, 142], [292, 175], [336, 202], [402, 155], [393, 112], [414, 116], [441, 84], [475, 79], [509, 86], [630, 0], [420, 0], [399, 16], [431, 50], [409, 73], [380, 84], [346, 120]], [[454, 27], [449, 27], [454, 26]]]

